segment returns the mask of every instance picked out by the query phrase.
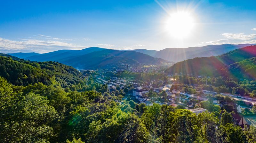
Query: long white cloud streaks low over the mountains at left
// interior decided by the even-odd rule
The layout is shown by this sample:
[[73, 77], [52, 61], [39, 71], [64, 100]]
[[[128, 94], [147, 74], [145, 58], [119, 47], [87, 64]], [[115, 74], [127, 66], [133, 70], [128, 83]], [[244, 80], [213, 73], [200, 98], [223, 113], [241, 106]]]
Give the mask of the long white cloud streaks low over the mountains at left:
[[60, 49], [83, 49], [85, 46], [67, 43], [58, 40], [40, 40], [40, 39], [20, 39], [10, 40], [0, 38], [0, 52], [15, 53], [15, 52], [37, 52], [45, 53]]

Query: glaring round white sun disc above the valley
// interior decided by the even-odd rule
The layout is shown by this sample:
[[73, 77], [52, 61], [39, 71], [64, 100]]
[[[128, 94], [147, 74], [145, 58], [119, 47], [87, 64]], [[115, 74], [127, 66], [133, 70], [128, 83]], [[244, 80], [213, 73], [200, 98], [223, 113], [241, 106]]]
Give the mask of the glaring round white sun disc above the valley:
[[194, 27], [194, 18], [188, 12], [170, 14], [166, 20], [166, 30], [176, 38], [183, 38], [190, 34]]

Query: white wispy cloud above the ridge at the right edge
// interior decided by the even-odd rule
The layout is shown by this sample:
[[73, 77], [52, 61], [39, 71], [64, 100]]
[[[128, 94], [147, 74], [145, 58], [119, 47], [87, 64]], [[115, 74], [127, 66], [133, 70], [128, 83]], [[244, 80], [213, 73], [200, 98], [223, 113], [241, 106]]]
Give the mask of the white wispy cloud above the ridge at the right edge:
[[256, 43], [256, 34], [250, 34], [250, 35], [245, 35], [244, 33], [223, 33], [221, 34], [224, 36], [223, 39], [219, 40], [214, 40], [214, 41], [204, 41], [198, 43], [198, 45], [202, 44], [212, 44], [212, 45], [217, 45], [217, 44], [255, 44]]

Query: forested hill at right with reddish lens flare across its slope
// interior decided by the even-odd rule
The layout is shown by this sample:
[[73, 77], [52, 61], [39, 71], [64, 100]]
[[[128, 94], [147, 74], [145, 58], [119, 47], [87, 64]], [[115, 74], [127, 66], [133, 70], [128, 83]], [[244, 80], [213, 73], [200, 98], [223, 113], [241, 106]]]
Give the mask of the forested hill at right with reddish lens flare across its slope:
[[255, 59], [250, 59], [253, 57], [256, 57], [256, 46], [247, 46], [220, 56], [201, 57], [177, 62], [168, 68], [166, 73], [191, 76], [228, 76], [255, 80], [255, 74], [247, 73], [247, 71], [252, 71], [251, 67], [256, 65]]

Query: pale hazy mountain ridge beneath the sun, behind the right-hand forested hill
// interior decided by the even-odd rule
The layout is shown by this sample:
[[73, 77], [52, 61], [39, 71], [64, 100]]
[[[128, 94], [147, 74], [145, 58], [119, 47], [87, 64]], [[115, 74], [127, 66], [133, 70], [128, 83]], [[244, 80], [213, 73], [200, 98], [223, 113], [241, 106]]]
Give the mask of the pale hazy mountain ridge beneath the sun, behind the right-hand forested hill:
[[238, 48], [251, 46], [251, 45], [255, 45], [255, 44], [238, 44], [238, 45], [222, 44], [222, 45], [207, 45], [207, 46], [201, 46], [201, 47], [188, 47], [188, 48], [165, 48], [160, 51], [146, 50], [146, 49], [137, 49], [137, 50], [131, 50], [131, 51], [148, 54], [150, 56], [162, 58], [167, 61], [179, 62], [187, 59], [192, 59], [195, 57], [217, 56]]

